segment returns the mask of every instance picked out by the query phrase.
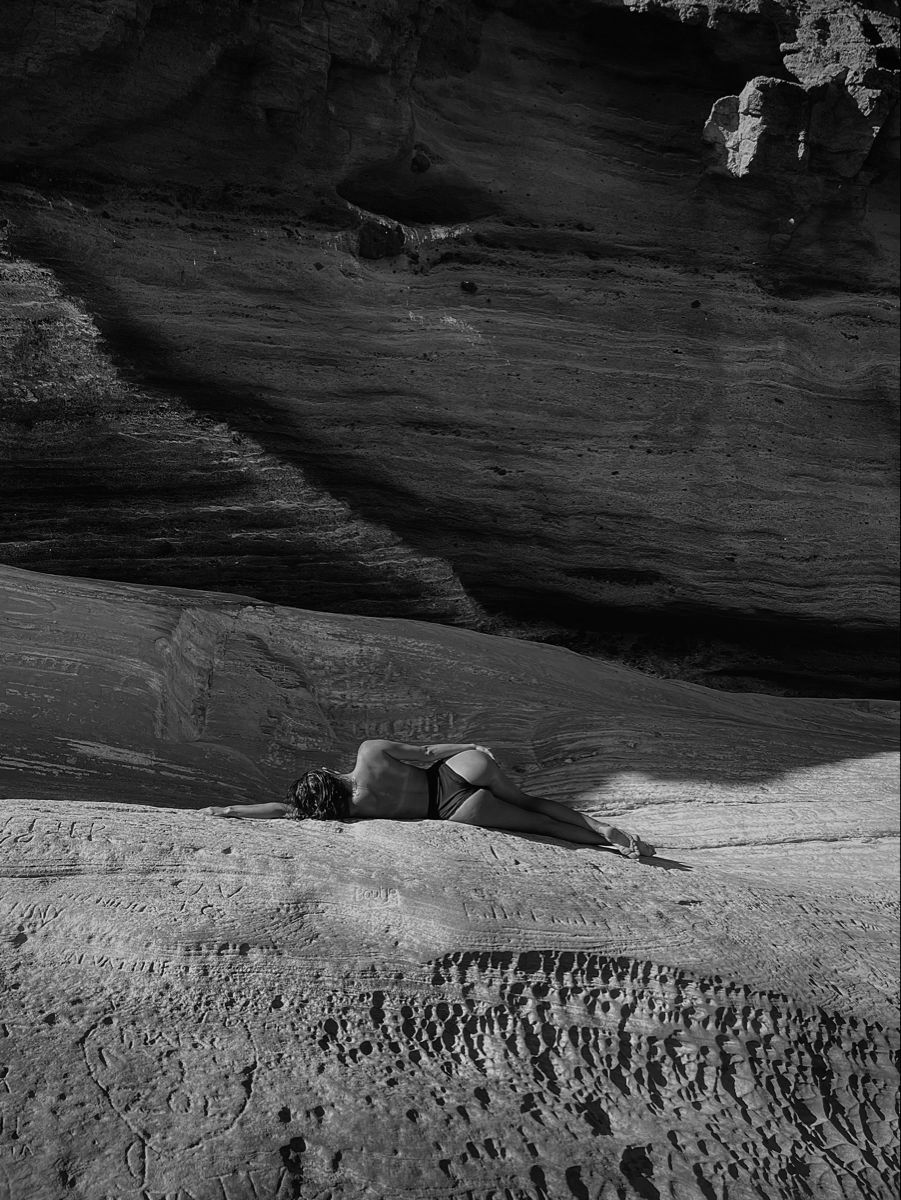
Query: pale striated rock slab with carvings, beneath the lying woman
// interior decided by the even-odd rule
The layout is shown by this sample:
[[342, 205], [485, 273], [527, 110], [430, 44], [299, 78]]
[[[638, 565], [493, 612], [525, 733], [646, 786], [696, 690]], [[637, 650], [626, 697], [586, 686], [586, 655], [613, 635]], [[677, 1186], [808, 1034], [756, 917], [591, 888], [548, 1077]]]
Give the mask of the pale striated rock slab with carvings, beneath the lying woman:
[[[238, 596], [1, 596], [4, 1195], [891, 1195], [896, 706]], [[190, 811], [367, 736], [477, 736], [661, 856]]]

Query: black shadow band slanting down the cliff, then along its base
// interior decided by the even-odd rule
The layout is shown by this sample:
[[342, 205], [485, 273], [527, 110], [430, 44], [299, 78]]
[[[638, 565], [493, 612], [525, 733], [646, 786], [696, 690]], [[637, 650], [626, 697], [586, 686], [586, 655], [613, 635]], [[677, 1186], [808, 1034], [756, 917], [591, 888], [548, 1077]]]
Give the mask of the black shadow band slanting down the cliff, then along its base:
[[[299, 413], [288, 415], [284, 409], [268, 404], [262, 389], [238, 385], [233, 379], [217, 377], [210, 372], [180, 361], [179, 348], [156, 329], [149, 319], [128, 311], [128, 301], [101, 274], [92, 270], [86, 260], [77, 259], [67, 252], [65, 236], [49, 230], [41, 221], [40, 211], [16, 209], [16, 232], [10, 239], [13, 250], [50, 270], [64, 286], [73, 292], [91, 312], [97, 326], [107, 340], [112, 356], [126, 377], [144, 386], [160, 388], [179, 398], [193, 412], [224, 420], [235, 431], [256, 440], [275, 461], [294, 469], [324, 492], [344, 502], [364, 520], [372, 521], [410, 545], [415, 551], [449, 562], [446, 535], [461, 529], [467, 540], [479, 542], [481, 538], [495, 539], [498, 529], [485, 520], [481, 510], [467, 510], [464, 520], [450, 522], [446, 497], [430, 503], [419, 492], [404, 487], [398, 480], [379, 469], [371, 460], [343, 451], [305, 421]], [[418, 395], [408, 391], [407, 395]], [[455, 506], [461, 509], [464, 497], [455, 496]], [[402, 520], [398, 520], [401, 517]], [[894, 629], [848, 630], [829, 622], [779, 616], [735, 617], [714, 606], [668, 606], [666, 610], [636, 611], [613, 605], [583, 602], [565, 592], [533, 588], [523, 594], [522, 588], [511, 589], [505, 584], [510, 564], [500, 564], [499, 570], [486, 572], [483, 566], [461, 562], [449, 563], [464, 590], [488, 614], [500, 619], [547, 620], [563, 625], [578, 637], [603, 631], [651, 636], [655, 641], [684, 641], [701, 638], [737, 642], [745, 650], [780, 656], [786, 652], [804, 647], [812, 655], [819, 650], [840, 652], [853, 656], [857, 673], [861, 676], [859, 690], [848, 678], [853, 668], [839, 671], [846, 683], [845, 694], [869, 697], [895, 698], [897, 695], [897, 635]], [[246, 586], [244, 590], [247, 590]], [[254, 592], [259, 588], [254, 588]], [[262, 595], [262, 599], [269, 599]], [[425, 606], [425, 598], [424, 598]], [[458, 624], [449, 605], [448, 622]], [[356, 611], [365, 611], [359, 607]], [[382, 607], [379, 607], [382, 611]], [[428, 606], [425, 619], [434, 619], [434, 605]], [[775, 655], [774, 655], [775, 648]], [[875, 664], [882, 661], [883, 670]], [[876, 677], [875, 676], [876, 672]], [[741, 668], [739, 668], [741, 673]], [[755, 664], [747, 666], [747, 674], [758, 674]], [[773, 672], [763, 671], [762, 678]], [[782, 673], [780, 672], [780, 677]], [[866, 683], [863, 683], [863, 677]], [[787, 677], [794, 679], [801, 690], [806, 683], [815, 683], [803, 670], [791, 668]], [[819, 694], [816, 686], [807, 694]]]

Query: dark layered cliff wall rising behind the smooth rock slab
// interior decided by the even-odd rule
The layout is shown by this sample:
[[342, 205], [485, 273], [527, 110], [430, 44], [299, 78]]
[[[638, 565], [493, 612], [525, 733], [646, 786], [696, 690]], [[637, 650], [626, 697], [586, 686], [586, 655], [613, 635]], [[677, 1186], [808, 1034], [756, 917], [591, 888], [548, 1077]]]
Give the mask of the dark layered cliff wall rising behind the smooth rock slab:
[[891, 694], [889, 6], [10, 12], [0, 557]]

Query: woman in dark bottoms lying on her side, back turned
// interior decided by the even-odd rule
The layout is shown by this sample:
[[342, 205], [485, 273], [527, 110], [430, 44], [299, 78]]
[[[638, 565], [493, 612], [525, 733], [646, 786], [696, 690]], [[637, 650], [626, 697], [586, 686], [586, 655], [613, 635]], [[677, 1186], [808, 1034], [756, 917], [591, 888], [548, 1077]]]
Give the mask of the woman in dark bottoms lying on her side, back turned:
[[655, 853], [654, 846], [614, 826], [522, 792], [503, 773], [491, 750], [473, 744], [364, 742], [353, 770], [343, 775], [328, 767], [308, 770], [288, 788], [284, 804], [229, 804], [203, 812], [295, 821], [457, 821], [607, 846], [626, 858]]

